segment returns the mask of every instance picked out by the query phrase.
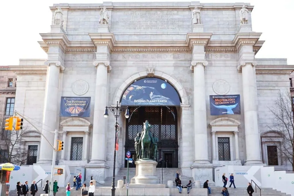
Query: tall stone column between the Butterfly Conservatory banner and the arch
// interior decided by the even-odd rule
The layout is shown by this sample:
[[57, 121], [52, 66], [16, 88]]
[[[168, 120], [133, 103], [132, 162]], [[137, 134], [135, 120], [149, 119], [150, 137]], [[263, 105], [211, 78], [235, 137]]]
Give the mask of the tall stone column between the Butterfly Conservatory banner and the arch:
[[[109, 61], [94, 61], [97, 67], [94, 101], [93, 142], [90, 163], [105, 164], [107, 120], [103, 117], [107, 105], [107, 69]], [[99, 151], [99, 153], [97, 153]]]

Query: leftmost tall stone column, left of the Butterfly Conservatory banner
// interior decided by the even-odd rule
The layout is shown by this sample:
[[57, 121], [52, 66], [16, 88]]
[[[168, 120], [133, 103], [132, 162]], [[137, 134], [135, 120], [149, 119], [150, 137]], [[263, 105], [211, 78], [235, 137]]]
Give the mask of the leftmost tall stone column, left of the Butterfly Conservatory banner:
[[[48, 66], [47, 77], [46, 77], [46, 88], [44, 96], [44, 109], [43, 109], [43, 121], [42, 121], [42, 136], [40, 141], [39, 149], [39, 160], [37, 164], [52, 164], [53, 149], [51, 145], [46, 141], [49, 140], [51, 144], [54, 144], [54, 132], [58, 128], [56, 125], [57, 111], [59, 107], [59, 73], [60, 68], [62, 70], [64, 67], [61, 65], [60, 61], [46, 61], [45, 65]], [[46, 139], [45, 139], [45, 138]]]

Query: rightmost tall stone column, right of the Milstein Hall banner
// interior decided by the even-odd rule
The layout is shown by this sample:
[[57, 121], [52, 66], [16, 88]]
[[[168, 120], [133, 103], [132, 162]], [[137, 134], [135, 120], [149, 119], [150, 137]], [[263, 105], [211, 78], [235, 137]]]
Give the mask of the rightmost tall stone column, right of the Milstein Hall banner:
[[255, 103], [255, 73], [253, 66], [255, 61], [242, 61], [239, 69], [242, 69], [242, 87], [244, 102], [246, 163], [245, 165], [262, 164], [260, 160], [260, 135], [258, 133], [257, 108]]

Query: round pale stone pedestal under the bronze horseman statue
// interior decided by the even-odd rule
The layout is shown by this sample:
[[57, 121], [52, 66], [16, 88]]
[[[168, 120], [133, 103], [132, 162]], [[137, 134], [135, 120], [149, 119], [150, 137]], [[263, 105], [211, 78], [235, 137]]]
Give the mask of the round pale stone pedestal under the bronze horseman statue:
[[139, 159], [135, 164], [136, 175], [131, 179], [131, 183], [159, 184], [159, 178], [156, 176], [156, 161], [151, 159]]

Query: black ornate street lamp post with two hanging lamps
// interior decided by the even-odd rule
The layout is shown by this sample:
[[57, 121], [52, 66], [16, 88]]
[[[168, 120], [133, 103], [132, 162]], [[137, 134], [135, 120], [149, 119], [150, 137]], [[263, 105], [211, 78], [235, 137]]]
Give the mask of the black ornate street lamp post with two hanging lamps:
[[126, 108], [126, 113], [125, 117], [129, 118], [129, 108], [128, 107], [118, 107], [118, 101], [116, 102], [116, 107], [105, 107], [104, 111], [104, 118], [108, 117], [108, 108], [110, 111], [113, 113], [115, 117], [115, 139], [114, 139], [114, 152], [113, 152], [113, 174], [112, 174], [112, 185], [111, 185], [111, 196], [115, 196], [115, 160], [116, 160], [116, 140], [117, 140], [117, 128], [118, 128], [118, 123], [117, 123], [117, 118], [119, 117], [120, 113], [123, 111], [124, 108]]

